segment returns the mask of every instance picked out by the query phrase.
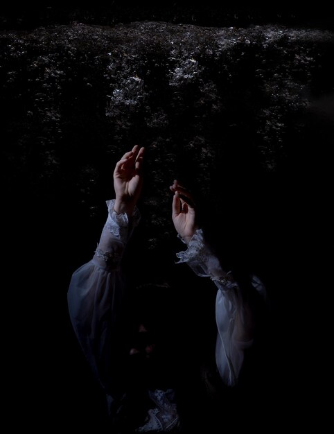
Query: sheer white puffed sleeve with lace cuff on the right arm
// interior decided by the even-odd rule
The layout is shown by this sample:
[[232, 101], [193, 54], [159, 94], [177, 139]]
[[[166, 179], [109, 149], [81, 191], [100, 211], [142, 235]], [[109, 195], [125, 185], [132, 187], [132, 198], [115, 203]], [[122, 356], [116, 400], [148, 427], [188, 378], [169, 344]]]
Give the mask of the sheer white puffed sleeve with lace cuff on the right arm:
[[[243, 303], [240, 288], [231, 273], [222, 270], [218, 258], [204, 241], [202, 229], [197, 229], [188, 249], [177, 253], [177, 257], [178, 263], [188, 263], [198, 276], [210, 277], [218, 287], [216, 363], [222, 381], [235, 385], [243, 365], [244, 349], [252, 345], [251, 315]], [[255, 279], [254, 284], [260, 286], [261, 281]]]

